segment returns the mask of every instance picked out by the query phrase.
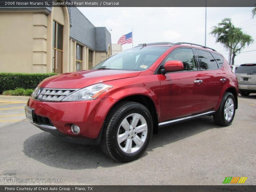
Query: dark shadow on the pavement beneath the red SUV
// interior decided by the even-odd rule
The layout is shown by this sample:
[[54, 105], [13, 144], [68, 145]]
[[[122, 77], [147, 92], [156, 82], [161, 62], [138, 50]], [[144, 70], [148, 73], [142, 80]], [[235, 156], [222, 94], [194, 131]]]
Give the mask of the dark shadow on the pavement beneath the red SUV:
[[[210, 116], [174, 124], [159, 129], [153, 135], [147, 151], [185, 139], [200, 132], [218, 128]], [[105, 156], [100, 146], [87, 146], [62, 141], [50, 133], [41, 132], [24, 141], [24, 153], [43, 164], [70, 170], [123, 165]], [[143, 156], [147, 156], [147, 151]]]

